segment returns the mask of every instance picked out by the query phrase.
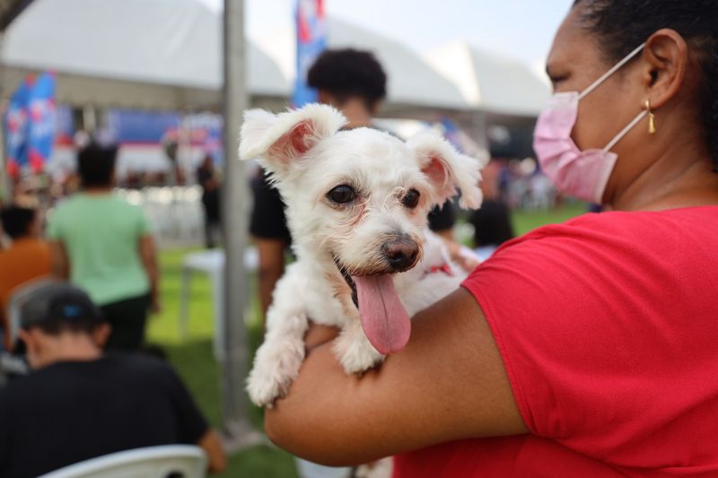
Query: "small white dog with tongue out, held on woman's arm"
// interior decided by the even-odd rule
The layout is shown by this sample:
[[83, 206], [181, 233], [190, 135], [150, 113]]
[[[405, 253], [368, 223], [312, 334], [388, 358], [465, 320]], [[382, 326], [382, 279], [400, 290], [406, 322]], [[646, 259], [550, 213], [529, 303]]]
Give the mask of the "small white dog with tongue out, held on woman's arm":
[[347, 374], [360, 373], [404, 347], [409, 317], [463, 279], [426, 215], [457, 188], [460, 205], [477, 208], [481, 162], [436, 135], [404, 143], [345, 124], [317, 104], [244, 115], [240, 157], [259, 157], [273, 174], [297, 257], [277, 282], [248, 379], [258, 405], [271, 405], [297, 376], [310, 318], [341, 329], [334, 351]]

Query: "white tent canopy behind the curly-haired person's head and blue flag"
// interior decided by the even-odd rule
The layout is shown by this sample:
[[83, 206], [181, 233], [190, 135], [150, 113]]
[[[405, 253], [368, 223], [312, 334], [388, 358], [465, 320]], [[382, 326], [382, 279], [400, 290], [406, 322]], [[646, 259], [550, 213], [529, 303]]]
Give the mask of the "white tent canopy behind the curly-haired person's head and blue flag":
[[[327, 37], [329, 48], [361, 48], [372, 51], [389, 77], [387, 109], [406, 106], [439, 109], [469, 109], [457, 87], [411, 49], [398, 41], [364, 30], [347, 22], [328, 18]], [[293, 30], [277, 31], [258, 40], [268, 56], [293, 82], [295, 78], [296, 51]]]

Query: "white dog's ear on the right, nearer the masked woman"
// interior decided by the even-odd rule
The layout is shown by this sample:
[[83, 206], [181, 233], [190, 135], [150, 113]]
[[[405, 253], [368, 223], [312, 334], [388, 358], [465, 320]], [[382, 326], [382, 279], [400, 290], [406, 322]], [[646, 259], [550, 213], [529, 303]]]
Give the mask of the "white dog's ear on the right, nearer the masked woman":
[[477, 209], [481, 205], [481, 180], [483, 161], [457, 152], [446, 140], [433, 133], [416, 135], [407, 141], [407, 146], [416, 154], [419, 168], [433, 186], [433, 204], [444, 204], [461, 193], [459, 205]]

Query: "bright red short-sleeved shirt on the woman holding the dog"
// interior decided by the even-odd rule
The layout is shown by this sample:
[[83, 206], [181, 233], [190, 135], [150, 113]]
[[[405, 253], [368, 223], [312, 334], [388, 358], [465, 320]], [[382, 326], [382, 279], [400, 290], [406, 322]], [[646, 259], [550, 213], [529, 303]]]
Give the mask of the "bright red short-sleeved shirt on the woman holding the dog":
[[718, 476], [718, 207], [587, 214], [463, 283], [530, 435], [395, 459], [395, 477]]

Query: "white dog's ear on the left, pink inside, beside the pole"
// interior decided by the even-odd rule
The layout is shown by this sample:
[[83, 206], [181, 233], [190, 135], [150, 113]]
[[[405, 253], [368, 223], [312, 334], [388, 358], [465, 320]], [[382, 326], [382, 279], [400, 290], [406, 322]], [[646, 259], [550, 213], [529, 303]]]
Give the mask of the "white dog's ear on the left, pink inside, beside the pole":
[[281, 173], [345, 124], [336, 109], [316, 103], [278, 115], [250, 109], [241, 126], [240, 159], [261, 158], [267, 169]]

